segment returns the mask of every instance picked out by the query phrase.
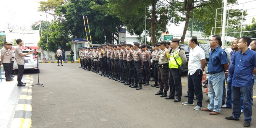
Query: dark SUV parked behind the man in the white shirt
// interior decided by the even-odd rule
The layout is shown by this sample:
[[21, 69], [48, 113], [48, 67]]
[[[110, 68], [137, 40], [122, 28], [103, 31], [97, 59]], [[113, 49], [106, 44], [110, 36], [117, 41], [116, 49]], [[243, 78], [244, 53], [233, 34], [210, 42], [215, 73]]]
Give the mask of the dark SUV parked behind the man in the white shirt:
[[[188, 44], [180, 44], [179, 45], [185, 52], [187, 59], [189, 60], [189, 53], [190, 53], [190, 47], [188, 47]], [[201, 47], [204, 50], [206, 63], [209, 61], [209, 49], [211, 48], [209, 44], [199, 44], [199, 47]], [[185, 65], [186, 71], [188, 71], [188, 62]]]

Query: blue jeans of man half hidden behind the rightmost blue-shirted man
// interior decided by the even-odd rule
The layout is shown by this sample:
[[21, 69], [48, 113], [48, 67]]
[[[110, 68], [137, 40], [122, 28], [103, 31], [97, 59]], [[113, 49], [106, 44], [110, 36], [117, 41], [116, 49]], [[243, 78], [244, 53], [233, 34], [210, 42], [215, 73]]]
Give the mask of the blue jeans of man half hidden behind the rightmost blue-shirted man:
[[[243, 110], [243, 96], [240, 96], [241, 101], [241, 110]], [[226, 100], [227, 107], [232, 107], [232, 77], [227, 78], [227, 100]]]

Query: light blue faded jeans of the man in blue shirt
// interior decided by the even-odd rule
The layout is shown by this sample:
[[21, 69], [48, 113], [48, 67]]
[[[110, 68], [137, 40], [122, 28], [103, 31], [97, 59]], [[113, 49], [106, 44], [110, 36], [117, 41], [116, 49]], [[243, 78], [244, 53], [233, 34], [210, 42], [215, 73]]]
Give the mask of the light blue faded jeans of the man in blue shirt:
[[208, 104], [208, 109], [220, 112], [222, 104], [222, 94], [223, 94], [223, 81], [225, 79], [224, 71], [220, 73], [210, 74], [208, 78], [209, 90], [208, 96], [210, 99], [210, 104]]

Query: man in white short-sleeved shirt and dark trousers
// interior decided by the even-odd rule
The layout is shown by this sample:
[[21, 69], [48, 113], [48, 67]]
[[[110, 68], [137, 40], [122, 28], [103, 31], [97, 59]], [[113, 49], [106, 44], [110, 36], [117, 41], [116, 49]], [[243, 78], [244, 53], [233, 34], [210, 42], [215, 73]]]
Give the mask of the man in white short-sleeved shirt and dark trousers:
[[193, 36], [188, 42], [191, 47], [188, 60], [188, 102], [182, 103], [183, 105], [194, 105], [194, 94], [198, 99], [194, 110], [202, 108], [203, 91], [202, 91], [202, 76], [206, 65], [204, 50], [198, 46], [197, 37]]

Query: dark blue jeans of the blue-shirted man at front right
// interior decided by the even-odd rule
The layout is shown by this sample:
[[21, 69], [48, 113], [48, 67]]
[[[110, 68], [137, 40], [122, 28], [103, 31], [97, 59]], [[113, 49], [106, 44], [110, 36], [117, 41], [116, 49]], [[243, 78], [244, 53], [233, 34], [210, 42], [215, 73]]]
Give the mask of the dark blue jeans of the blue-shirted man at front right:
[[243, 86], [243, 87], [235, 87], [232, 86], [232, 102], [233, 102], [233, 113], [232, 116], [235, 119], [239, 119], [241, 115], [241, 101], [240, 96], [243, 96], [243, 103], [244, 103], [244, 111], [243, 114], [245, 116], [245, 121], [251, 122], [251, 85]]

